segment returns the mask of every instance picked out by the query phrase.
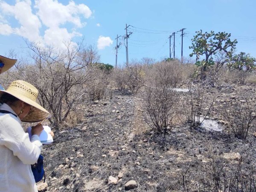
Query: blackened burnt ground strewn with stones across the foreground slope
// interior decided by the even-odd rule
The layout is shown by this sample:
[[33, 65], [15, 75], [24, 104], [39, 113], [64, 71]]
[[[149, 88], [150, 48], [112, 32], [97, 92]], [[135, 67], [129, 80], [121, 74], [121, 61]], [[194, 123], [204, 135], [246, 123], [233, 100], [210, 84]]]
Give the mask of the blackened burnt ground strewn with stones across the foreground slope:
[[[221, 106], [243, 97], [248, 97], [255, 110], [253, 87], [222, 89], [211, 117], [224, 120]], [[216, 89], [212, 89], [208, 95], [215, 93]], [[152, 134], [144, 121], [142, 95], [114, 90], [112, 99], [104, 102], [86, 105], [81, 122], [55, 131], [54, 143], [44, 145], [47, 191], [125, 191], [129, 180], [137, 182], [137, 188], [130, 190], [134, 192], [210, 191], [213, 168], [231, 178], [241, 159], [239, 155], [241, 169], [249, 177], [256, 159], [254, 127], [243, 143], [226, 125], [219, 132], [180, 124], [172, 128], [163, 143], [163, 136]], [[227, 158], [226, 153], [239, 154]], [[109, 176], [118, 175], [116, 184], [108, 183]], [[220, 182], [224, 182], [223, 174]]]

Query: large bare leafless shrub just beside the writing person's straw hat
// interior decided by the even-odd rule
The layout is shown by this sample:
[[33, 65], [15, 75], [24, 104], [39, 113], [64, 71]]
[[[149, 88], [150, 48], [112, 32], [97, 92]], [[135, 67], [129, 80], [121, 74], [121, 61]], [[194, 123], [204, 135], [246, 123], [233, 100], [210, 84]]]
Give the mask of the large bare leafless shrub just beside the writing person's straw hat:
[[52, 117], [49, 121], [56, 128], [61, 126], [71, 111], [83, 102], [86, 94], [84, 84], [93, 78], [89, 67], [98, 61], [96, 50], [82, 44], [58, 50], [29, 44], [34, 64], [20, 67], [15, 79], [22, 79], [35, 85], [39, 91], [39, 102]]

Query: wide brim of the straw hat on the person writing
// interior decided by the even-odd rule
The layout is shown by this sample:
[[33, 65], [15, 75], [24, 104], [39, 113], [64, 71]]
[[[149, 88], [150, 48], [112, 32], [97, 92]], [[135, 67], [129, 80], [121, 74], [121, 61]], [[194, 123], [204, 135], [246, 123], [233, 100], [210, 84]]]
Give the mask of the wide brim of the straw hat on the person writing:
[[20, 99], [21, 101], [33, 106], [28, 115], [22, 119], [23, 122], [39, 122], [45, 118], [50, 117], [50, 113], [45, 108], [29, 98], [19, 96], [17, 93], [13, 93], [12, 91], [7, 90], [0, 90], [0, 93], [9, 93], [10, 95], [15, 96], [17, 99]]

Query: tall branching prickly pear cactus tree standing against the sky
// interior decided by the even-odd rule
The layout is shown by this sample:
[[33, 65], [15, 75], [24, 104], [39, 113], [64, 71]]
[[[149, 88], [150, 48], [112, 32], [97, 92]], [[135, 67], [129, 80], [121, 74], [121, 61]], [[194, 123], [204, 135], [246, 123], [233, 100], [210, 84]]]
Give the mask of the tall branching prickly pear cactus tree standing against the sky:
[[[193, 52], [190, 54], [190, 57], [196, 55], [195, 64], [198, 67], [201, 67], [201, 79], [206, 77], [205, 71], [208, 66], [214, 65], [214, 55], [217, 51], [223, 51], [228, 57], [231, 57], [233, 50], [236, 47], [237, 41], [230, 40], [230, 33], [218, 32], [214, 33], [203, 33], [202, 30], [196, 32], [197, 35], [192, 39], [192, 46], [190, 49], [193, 49]], [[205, 58], [200, 60], [200, 56], [204, 55]]]

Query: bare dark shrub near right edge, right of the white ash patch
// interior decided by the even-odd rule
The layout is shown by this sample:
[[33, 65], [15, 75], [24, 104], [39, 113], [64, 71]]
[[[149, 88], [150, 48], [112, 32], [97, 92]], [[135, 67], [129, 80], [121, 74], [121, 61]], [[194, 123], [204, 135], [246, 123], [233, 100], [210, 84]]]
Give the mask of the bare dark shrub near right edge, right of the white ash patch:
[[243, 141], [246, 139], [255, 119], [255, 113], [250, 109], [246, 98], [245, 101], [244, 104], [236, 102], [235, 105], [226, 105], [224, 107], [224, 118], [229, 123], [228, 127], [235, 137]]

